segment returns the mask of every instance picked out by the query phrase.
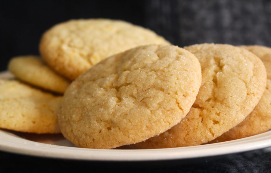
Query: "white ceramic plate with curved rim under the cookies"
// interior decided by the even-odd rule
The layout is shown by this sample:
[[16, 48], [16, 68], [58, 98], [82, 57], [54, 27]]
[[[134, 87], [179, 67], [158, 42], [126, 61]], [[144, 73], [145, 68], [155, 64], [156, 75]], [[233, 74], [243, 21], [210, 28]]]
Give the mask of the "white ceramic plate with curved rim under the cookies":
[[[0, 77], [10, 77], [7, 72]], [[170, 149], [85, 149], [73, 146], [62, 135], [37, 135], [0, 130], [0, 150], [59, 159], [91, 161], [155, 161], [192, 159], [244, 152], [271, 146], [271, 131], [233, 141]]]

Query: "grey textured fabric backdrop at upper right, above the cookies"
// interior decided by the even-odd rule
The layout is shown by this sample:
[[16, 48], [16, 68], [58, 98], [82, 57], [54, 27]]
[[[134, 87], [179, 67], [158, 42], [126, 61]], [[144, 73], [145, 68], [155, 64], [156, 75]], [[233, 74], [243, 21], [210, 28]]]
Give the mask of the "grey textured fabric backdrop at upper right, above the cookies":
[[271, 1], [151, 0], [146, 26], [173, 44], [271, 46]]

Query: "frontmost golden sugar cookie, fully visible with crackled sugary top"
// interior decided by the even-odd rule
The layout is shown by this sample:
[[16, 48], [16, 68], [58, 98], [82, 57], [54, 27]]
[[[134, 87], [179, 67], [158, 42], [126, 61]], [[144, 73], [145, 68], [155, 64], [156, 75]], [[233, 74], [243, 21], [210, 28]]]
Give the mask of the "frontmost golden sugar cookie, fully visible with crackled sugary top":
[[201, 67], [177, 46], [139, 46], [111, 56], [68, 87], [58, 114], [64, 137], [110, 149], [163, 133], [188, 113]]

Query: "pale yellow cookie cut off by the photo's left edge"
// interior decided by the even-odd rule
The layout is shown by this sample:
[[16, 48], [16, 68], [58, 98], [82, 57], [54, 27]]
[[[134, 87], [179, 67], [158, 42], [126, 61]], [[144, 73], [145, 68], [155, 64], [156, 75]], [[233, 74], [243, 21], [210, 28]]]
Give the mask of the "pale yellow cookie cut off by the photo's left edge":
[[16, 80], [0, 79], [0, 128], [60, 133], [56, 111], [61, 98]]

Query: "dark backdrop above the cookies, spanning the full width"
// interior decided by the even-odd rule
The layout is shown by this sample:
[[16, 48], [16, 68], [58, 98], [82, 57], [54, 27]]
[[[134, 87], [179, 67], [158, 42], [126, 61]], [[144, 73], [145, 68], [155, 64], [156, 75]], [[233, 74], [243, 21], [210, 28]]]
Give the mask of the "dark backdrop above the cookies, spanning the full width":
[[271, 46], [268, 0], [7, 0], [0, 1], [0, 70], [12, 56], [39, 54], [45, 30], [77, 18], [129, 21], [180, 47], [204, 42]]

